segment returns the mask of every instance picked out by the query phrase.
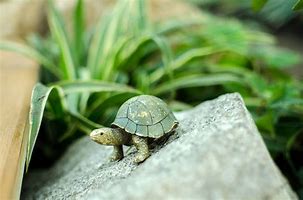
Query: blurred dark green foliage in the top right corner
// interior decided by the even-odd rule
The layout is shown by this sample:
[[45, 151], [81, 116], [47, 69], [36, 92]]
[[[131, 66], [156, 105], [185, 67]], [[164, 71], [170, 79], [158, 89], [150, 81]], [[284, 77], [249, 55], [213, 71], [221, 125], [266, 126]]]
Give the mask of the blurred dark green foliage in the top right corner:
[[258, 18], [273, 28], [279, 28], [294, 18], [302, 22], [302, 0], [190, 0], [203, 9], [220, 15]]

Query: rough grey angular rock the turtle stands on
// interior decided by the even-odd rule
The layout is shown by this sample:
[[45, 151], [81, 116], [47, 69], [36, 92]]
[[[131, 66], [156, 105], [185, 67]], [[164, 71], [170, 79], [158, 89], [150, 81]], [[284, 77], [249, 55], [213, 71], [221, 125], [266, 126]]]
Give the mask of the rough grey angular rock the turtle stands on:
[[180, 127], [140, 165], [134, 152], [80, 139], [49, 170], [27, 176], [24, 199], [297, 199], [239, 94], [177, 113]]

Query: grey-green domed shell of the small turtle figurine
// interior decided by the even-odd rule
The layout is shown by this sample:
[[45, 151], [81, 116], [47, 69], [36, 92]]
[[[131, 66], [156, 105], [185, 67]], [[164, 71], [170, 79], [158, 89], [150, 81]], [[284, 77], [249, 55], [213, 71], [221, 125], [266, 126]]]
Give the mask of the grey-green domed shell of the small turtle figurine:
[[127, 100], [119, 108], [112, 127], [130, 134], [159, 138], [178, 126], [167, 104], [155, 96], [140, 95]]

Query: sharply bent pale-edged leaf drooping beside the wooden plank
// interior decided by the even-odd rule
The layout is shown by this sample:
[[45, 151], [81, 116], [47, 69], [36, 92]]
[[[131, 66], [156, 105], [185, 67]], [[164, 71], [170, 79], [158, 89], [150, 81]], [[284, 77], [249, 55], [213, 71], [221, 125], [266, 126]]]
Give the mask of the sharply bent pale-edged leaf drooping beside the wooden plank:
[[37, 83], [35, 85], [32, 92], [31, 107], [29, 113], [29, 138], [26, 153], [26, 170], [28, 169], [34, 145], [39, 133], [45, 105], [51, 93], [54, 93], [54, 95], [59, 98], [56, 101], [56, 112], [63, 113], [67, 108], [66, 102], [64, 101], [64, 94], [61, 88], [56, 86], [46, 87], [40, 83]]

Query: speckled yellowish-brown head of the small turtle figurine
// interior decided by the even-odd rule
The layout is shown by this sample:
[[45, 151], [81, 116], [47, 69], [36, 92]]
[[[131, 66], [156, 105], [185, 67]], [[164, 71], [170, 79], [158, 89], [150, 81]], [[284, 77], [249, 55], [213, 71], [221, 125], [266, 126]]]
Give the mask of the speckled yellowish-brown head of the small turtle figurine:
[[90, 138], [104, 145], [122, 145], [123, 134], [119, 129], [115, 128], [99, 128], [90, 133]]

